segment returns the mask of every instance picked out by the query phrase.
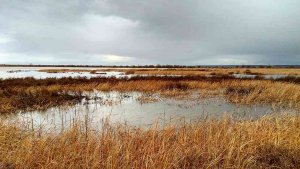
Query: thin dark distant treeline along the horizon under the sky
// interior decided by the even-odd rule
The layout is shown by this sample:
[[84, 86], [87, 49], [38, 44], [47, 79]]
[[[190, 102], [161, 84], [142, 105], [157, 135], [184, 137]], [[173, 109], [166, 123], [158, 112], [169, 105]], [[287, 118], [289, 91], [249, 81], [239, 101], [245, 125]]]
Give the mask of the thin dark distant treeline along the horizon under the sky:
[[0, 67], [91, 67], [91, 68], [300, 68], [300, 65], [21, 65], [0, 64]]

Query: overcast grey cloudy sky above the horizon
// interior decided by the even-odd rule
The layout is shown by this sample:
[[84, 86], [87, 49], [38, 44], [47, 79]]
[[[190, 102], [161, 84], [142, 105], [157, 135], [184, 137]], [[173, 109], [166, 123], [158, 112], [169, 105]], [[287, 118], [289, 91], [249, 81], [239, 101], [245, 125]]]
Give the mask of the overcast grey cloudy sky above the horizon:
[[300, 64], [299, 0], [0, 4], [0, 64]]

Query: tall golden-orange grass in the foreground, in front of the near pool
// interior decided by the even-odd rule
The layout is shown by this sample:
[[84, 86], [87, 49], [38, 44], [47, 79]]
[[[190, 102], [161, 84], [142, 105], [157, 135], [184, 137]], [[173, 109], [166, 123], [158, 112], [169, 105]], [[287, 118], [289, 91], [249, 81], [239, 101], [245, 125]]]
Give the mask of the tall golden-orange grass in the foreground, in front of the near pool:
[[300, 117], [61, 133], [0, 123], [1, 168], [299, 168]]

